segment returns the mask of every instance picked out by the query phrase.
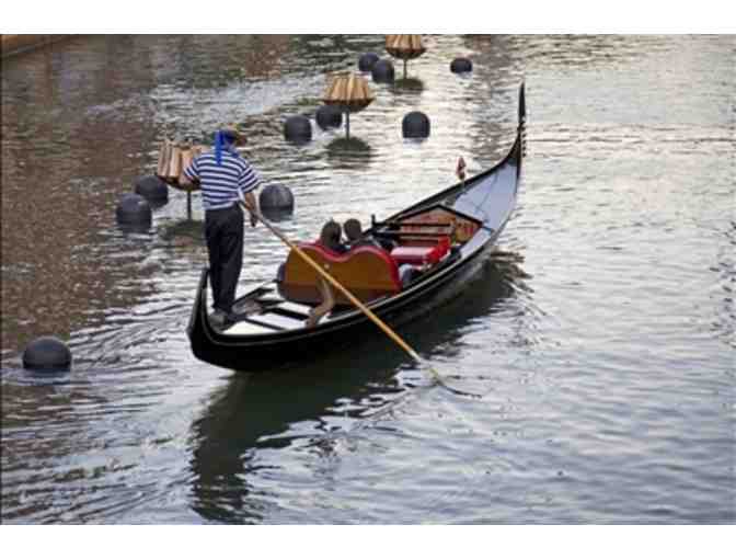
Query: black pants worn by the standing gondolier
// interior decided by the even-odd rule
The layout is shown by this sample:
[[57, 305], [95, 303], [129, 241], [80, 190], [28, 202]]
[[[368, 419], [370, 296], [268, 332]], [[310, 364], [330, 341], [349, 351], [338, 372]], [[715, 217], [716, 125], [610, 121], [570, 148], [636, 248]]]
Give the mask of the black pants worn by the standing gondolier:
[[205, 212], [205, 237], [214, 307], [230, 312], [243, 266], [243, 210], [240, 206]]

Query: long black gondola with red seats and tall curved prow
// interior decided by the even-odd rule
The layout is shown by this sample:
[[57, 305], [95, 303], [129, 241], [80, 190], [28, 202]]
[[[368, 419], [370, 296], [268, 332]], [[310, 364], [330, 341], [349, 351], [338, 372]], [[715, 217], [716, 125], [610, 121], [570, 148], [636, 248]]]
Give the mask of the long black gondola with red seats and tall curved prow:
[[[365, 242], [346, 254], [319, 242], [300, 248], [388, 324], [426, 313], [478, 273], [516, 206], [525, 156], [524, 83], [518, 117], [516, 139], [493, 168], [373, 220], [363, 233]], [[209, 271], [204, 267], [187, 327], [194, 355], [226, 368], [262, 372], [319, 358], [365, 335], [382, 335], [340, 296], [329, 313], [310, 323], [324, 292], [294, 250], [276, 276], [239, 297], [233, 319], [216, 327], [207, 310]]]

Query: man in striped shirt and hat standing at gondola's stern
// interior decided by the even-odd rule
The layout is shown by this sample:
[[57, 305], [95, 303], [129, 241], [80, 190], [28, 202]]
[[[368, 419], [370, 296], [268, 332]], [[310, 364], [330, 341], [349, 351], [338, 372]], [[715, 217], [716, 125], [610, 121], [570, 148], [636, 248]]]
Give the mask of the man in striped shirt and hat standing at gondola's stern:
[[[238, 204], [243, 193], [250, 207], [257, 209], [253, 191], [261, 179], [251, 164], [235, 151], [245, 137], [234, 126], [217, 130], [215, 148], [197, 157], [184, 174], [202, 186], [205, 209], [205, 237], [209, 252], [214, 310], [211, 320], [225, 323], [232, 310], [235, 287], [243, 264], [243, 212]], [[251, 213], [251, 226], [257, 220]]]

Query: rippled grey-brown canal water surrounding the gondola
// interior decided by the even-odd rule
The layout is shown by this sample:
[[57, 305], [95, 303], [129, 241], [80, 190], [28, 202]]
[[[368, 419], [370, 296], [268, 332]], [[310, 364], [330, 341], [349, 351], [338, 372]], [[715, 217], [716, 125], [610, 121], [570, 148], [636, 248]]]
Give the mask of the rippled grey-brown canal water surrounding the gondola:
[[[327, 76], [383, 37], [91, 36], [2, 61], [3, 523], [734, 523], [736, 258], [728, 36], [426, 36], [344, 130]], [[456, 76], [457, 56], [473, 72]], [[198, 362], [200, 198], [148, 231], [119, 197], [164, 134], [239, 122], [291, 238], [386, 216], [497, 162], [527, 84], [518, 207], [463, 293], [262, 375]], [[401, 119], [423, 111], [424, 141]], [[304, 146], [287, 116], [312, 118]], [[286, 250], [245, 230], [241, 289]], [[37, 336], [65, 374], [24, 370]]]

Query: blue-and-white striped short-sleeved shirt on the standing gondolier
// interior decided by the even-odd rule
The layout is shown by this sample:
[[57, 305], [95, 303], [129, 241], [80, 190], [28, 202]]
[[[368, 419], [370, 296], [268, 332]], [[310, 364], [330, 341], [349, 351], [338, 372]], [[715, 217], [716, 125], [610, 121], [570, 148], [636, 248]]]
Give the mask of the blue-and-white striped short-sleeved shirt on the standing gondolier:
[[261, 178], [240, 155], [222, 150], [222, 164], [218, 166], [215, 152], [208, 151], [192, 161], [184, 170], [191, 180], [202, 185], [202, 203], [207, 209], [222, 209], [238, 203], [238, 191], [245, 194], [261, 184]]

